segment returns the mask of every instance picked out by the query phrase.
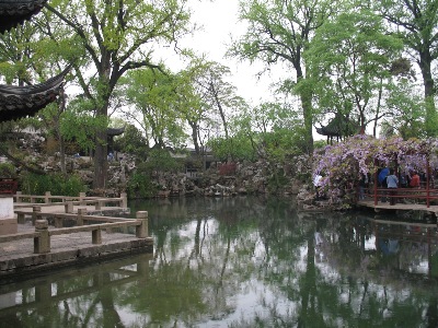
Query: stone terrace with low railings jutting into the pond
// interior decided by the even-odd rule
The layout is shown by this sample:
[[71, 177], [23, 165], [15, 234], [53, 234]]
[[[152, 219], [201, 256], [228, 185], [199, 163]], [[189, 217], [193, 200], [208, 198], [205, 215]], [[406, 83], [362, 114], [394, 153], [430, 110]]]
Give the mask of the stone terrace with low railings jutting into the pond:
[[[114, 204], [113, 199], [91, 199], [91, 204], [89, 200], [69, 201], [68, 206], [66, 201], [14, 202], [18, 233], [0, 235], [0, 285], [66, 266], [153, 253], [147, 212], [137, 212], [136, 219], [112, 218], [130, 212], [125, 200], [117, 203], [116, 199], [118, 206], [106, 206]], [[66, 227], [64, 220], [69, 221]], [[70, 226], [72, 221], [74, 226]]]

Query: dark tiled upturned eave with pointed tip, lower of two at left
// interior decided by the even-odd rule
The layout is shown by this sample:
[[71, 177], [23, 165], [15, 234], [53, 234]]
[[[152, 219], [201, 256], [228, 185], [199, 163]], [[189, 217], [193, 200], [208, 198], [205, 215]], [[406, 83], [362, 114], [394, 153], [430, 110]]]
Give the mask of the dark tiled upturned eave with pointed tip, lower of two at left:
[[69, 69], [37, 85], [0, 85], [0, 121], [34, 116], [54, 102]]

